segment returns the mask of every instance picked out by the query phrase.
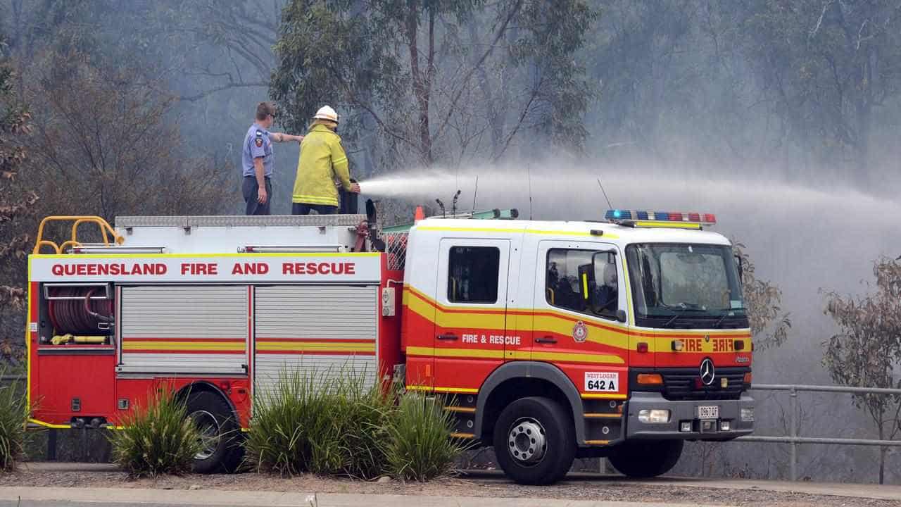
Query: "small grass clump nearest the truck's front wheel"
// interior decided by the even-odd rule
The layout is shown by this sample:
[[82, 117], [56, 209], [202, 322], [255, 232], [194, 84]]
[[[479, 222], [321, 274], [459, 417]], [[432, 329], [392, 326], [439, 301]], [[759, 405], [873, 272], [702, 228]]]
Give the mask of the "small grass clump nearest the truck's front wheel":
[[388, 428], [387, 471], [398, 479], [427, 481], [449, 474], [466, 449], [451, 438], [451, 413], [422, 392], [400, 397]]

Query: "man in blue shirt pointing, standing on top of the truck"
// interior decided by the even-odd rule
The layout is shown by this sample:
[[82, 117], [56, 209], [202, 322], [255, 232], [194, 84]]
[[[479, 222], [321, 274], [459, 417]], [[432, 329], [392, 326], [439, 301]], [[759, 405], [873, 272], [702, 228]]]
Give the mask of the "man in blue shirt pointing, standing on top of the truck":
[[244, 148], [241, 152], [241, 170], [244, 181], [241, 193], [247, 203], [247, 215], [269, 215], [269, 203], [272, 202], [272, 167], [275, 157], [272, 155], [272, 142], [303, 141], [303, 135], [281, 134], [269, 132], [275, 122], [276, 106], [271, 102], [260, 102], [257, 105], [257, 119], [250, 125], [244, 136]]

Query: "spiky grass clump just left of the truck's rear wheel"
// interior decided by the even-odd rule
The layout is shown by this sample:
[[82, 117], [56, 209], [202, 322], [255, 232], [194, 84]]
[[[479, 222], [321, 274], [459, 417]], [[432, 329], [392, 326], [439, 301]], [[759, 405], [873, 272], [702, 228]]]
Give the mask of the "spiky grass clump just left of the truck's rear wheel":
[[150, 394], [145, 407], [135, 404], [122, 425], [110, 433], [113, 461], [134, 476], [190, 472], [203, 446], [185, 401], [170, 390]]

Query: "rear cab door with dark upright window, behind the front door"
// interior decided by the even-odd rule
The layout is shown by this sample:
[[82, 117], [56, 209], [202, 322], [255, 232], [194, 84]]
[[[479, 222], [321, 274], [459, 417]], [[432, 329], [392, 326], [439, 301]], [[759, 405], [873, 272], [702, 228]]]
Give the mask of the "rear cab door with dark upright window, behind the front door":
[[441, 240], [434, 334], [436, 392], [477, 392], [504, 362], [510, 240]]

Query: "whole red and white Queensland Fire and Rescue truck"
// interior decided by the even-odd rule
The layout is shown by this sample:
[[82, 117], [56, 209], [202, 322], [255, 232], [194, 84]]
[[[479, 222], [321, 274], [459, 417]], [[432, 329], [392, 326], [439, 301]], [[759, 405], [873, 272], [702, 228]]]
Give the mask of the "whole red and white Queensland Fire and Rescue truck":
[[32, 425], [116, 428], [166, 385], [211, 432], [196, 471], [229, 470], [254, 398], [298, 371], [431, 393], [452, 437], [494, 447], [520, 484], [575, 457], [660, 475], [686, 440], [751, 433], [742, 265], [714, 216], [379, 229], [368, 211], [46, 218], [28, 261]]

